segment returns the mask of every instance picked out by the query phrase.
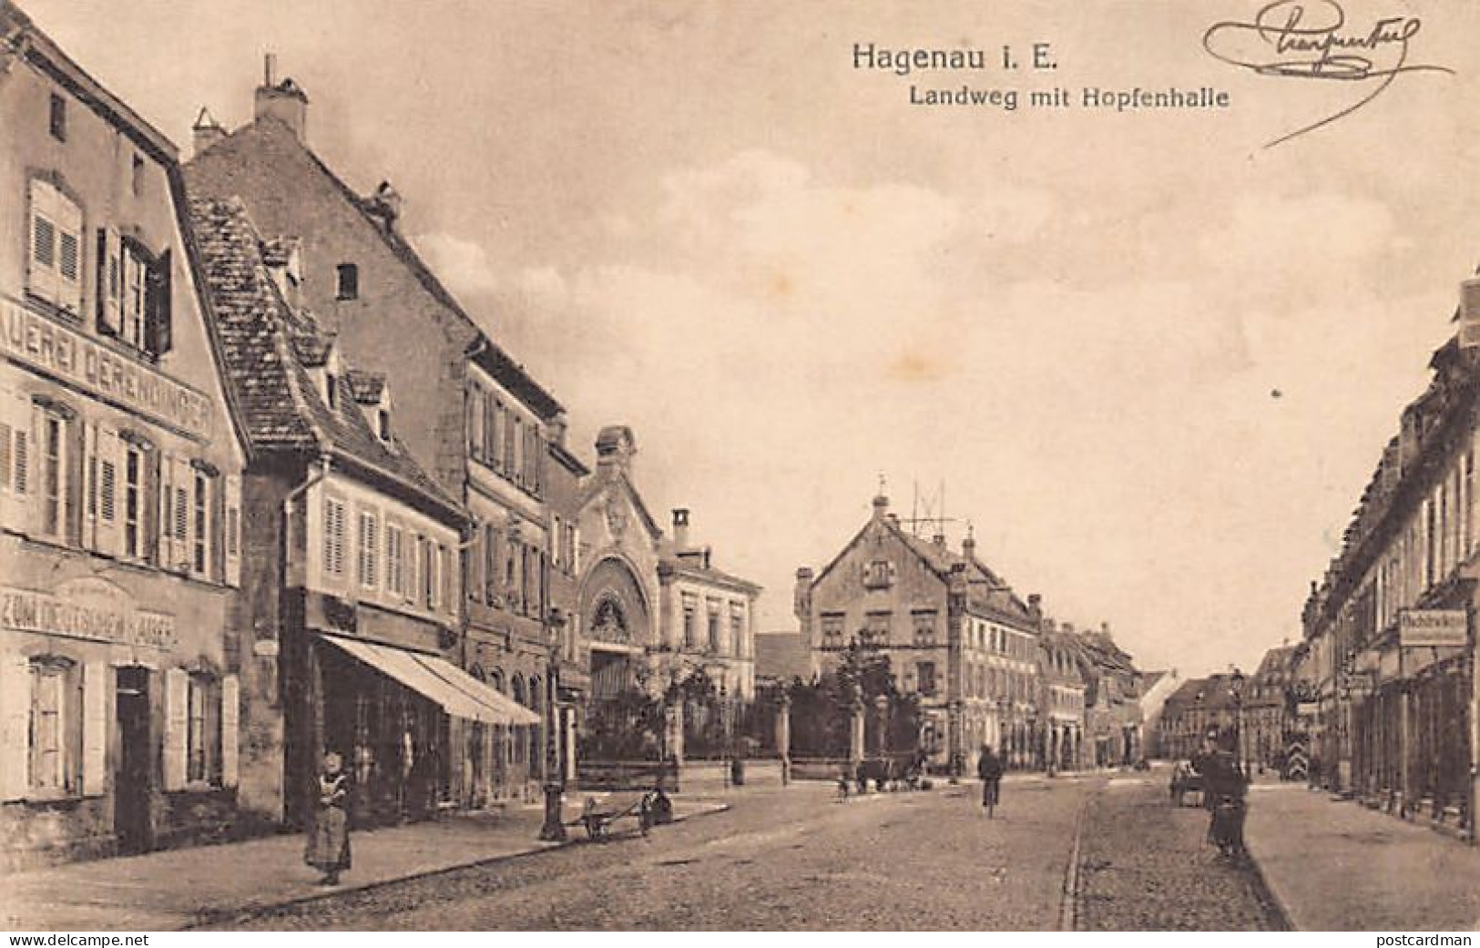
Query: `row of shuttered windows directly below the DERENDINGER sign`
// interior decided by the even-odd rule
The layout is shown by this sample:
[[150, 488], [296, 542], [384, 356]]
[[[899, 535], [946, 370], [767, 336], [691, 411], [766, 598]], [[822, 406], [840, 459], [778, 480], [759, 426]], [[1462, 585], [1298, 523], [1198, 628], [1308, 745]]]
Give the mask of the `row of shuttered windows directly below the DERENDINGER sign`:
[[44, 396], [0, 405], [4, 525], [52, 543], [235, 581], [240, 479]]

